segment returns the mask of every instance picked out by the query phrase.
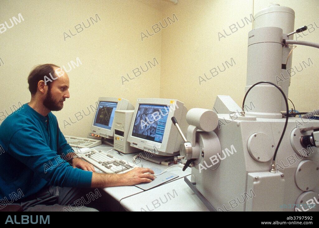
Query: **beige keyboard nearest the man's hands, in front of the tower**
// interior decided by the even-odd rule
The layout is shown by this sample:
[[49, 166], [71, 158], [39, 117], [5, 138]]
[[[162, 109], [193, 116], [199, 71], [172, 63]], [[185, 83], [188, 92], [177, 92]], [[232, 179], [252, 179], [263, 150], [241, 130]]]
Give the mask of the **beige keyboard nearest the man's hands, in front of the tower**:
[[113, 155], [105, 150], [91, 149], [87, 150], [86, 154], [79, 154], [84, 160], [99, 168], [104, 173], [121, 174], [132, 170], [137, 165], [122, 160], [116, 155]]

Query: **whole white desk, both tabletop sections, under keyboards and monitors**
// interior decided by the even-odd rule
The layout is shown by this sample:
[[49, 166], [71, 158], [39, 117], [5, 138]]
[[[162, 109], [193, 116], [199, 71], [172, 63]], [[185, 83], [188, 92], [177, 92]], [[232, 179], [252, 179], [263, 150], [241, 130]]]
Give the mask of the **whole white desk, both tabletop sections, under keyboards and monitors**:
[[[105, 148], [103, 148], [105, 147]], [[107, 147], [107, 148], [106, 148]], [[95, 146], [92, 149], [103, 148], [108, 151], [112, 149], [112, 146], [108, 146], [102, 144], [100, 146]], [[74, 148], [75, 149], [75, 148]], [[114, 154], [115, 156], [121, 157], [123, 160], [127, 160], [132, 162], [132, 158], [138, 154], [123, 154], [123, 156], [119, 155], [117, 152], [110, 151], [109, 153]], [[167, 169], [169, 166], [156, 164], [151, 161], [143, 160], [138, 165], [148, 168], [159, 168], [162, 170]], [[172, 165], [170, 165], [172, 166]], [[102, 172], [98, 168], [95, 167], [96, 172]], [[178, 178], [166, 182], [156, 188], [149, 189], [144, 191], [136, 186], [120, 186], [120, 187], [108, 187], [103, 190], [110, 196], [110, 202], [112, 204], [112, 210], [130, 210], [130, 211], [141, 211], [141, 208], [145, 209], [145, 211], [180, 211], [180, 210], [188, 210], [188, 211], [196, 211], [196, 210], [207, 210], [204, 204], [197, 198], [197, 196], [193, 193], [191, 189], [184, 182], [184, 176], [190, 176], [190, 170], [186, 169], [184, 172], [182, 171], [182, 167], [172, 167], [168, 170], [174, 174], [179, 175]], [[166, 197], [165, 197], [165, 196]], [[174, 197], [173, 197], [174, 196]], [[169, 200], [169, 197], [171, 200]], [[168, 199], [166, 202], [166, 198]], [[158, 206], [156, 204], [153, 206], [152, 202], [156, 199], [159, 200], [159, 203], [162, 206]], [[138, 203], [137, 203], [138, 202]], [[163, 203], [164, 202], [164, 203]], [[148, 208], [146, 207], [148, 206]], [[153, 208], [150, 208], [151, 205]], [[154, 208], [158, 206], [157, 208]], [[143, 210], [142, 210], [143, 211]]]

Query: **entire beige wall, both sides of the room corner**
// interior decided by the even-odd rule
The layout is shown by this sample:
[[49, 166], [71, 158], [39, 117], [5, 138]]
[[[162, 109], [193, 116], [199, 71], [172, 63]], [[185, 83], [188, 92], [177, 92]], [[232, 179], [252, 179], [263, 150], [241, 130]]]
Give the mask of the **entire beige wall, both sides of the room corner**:
[[[254, 13], [272, 2], [255, 0]], [[293, 8], [295, 28], [314, 26], [314, 31], [306, 33], [301, 40], [319, 42], [319, 29], [314, 25], [316, 22], [319, 27], [317, 0], [274, 3]], [[10, 113], [12, 105], [30, 100], [26, 77], [34, 65], [51, 62], [67, 67], [70, 61], [76, 62], [77, 57], [82, 65], [68, 73], [71, 97], [63, 110], [55, 112], [65, 134], [86, 135], [93, 118], [92, 106], [99, 96], [123, 97], [133, 105], [138, 97], [174, 98], [184, 102], [188, 109], [211, 109], [217, 95], [230, 95], [239, 105], [242, 102], [246, 85], [247, 34], [252, 29], [249, 22], [253, 13], [252, 0], [180, 0], [176, 5], [161, 0], [53, 0], [45, 3], [5, 0], [0, 11], [0, 23], [7, 21], [10, 25], [9, 19], [18, 17], [18, 13], [24, 18], [0, 34], [0, 58], [4, 62], [3, 65], [0, 60], [0, 123], [2, 112], [6, 116], [5, 111]], [[82, 22], [87, 24], [86, 19], [96, 19], [96, 14], [101, 20], [64, 41], [63, 32], [70, 34], [70, 29], [76, 33], [74, 26]], [[165, 25], [164, 18], [173, 19], [173, 14], [178, 21], [141, 40], [141, 32], [152, 31], [152, 25], [156, 27], [159, 21]], [[232, 33], [229, 26], [236, 22], [241, 24], [241, 19], [245, 26], [237, 26], [238, 30]], [[223, 30], [230, 35], [226, 36]], [[219, 32], [225, 37], [219, 38]], [[300, 111], [318, 108], [318, 50], [297, 47], [293, 66], [309, 57], [313, 65], [297, 73], [290, 87], [289, 98]], [[132, 70], [143, 67], [153, 58], [159, 65], [122, 83], [121, 76], [128, 73], [134, 77]], [[223, 70], [222, 64], [226, 70], [218, 75], [215, 72], [216, 76], [211, 77], [210, 70], [217, 66]], [[206, 79], [204, 74], [211, 79]], [[199, 77], [205, 79], [201, 79], [201, 84]], [[83, 112], [90, 114], [85, 116]], [[84, 118], [78, 121], [76, 113]], [[76, 123], [70, 126], [65, 121]]]

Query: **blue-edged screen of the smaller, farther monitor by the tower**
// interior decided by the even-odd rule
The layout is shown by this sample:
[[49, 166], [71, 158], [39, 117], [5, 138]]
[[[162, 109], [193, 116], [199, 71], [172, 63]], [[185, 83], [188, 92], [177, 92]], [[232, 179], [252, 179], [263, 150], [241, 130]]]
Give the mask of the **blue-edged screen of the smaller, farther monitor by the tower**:
[[95, 114], [94, 126], [110, 130], [116, 110], [116, 102], [101, 101]]

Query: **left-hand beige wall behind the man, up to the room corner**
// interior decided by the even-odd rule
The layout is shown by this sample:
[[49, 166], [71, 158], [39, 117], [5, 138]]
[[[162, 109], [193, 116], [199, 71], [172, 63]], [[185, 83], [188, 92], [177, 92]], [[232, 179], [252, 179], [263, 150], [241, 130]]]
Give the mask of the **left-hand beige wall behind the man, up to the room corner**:
[[[131, 0], [8, 0], [1, 2], [0, 11], [0, 23], [7, 21], [10, 26], [9, 19], [18, 18], [19, 13], [24, 19], [0, 34], [0, 58], [4, 61], [0, 67], [0, 112], [6, 110], [10, 114], [12, 105], [30, 101], [26, 79], [34, 65], [54, 63], [69, 69], [68, 63], [76, 63], [77, 57], [82, 65], [78, 63], [79, 67], [68, 73], [70, 99], [63, 110], [54, 112], [65, 134], [86, 136], [94, 115], [90, 105], [95, 106], [99, 96], [123, 97], [134, 105], [138, 97], [159, 96], [161, 34], [143, 42], [140, 35], [162, 17], [150, 6]], [[76, 34], [74, 27], [82, 22], [88, 26], [86, 19], [90, 17], [98, 22], [93, 21], [94, 25], [91, 23], [82, 32], [77, 26], [79, 33], [72, 37], [68, 30]], [[64, 41], [63, 32], [71, 38]], [[128, 79], [127, 73], [134, 78], [132, 70], [140, 65], [146, 70], [145, 62], [154, 62], [153, 58], [159, 65], [155, 63], [156, 67]], [[123, 79], [122, 83], [123, 75], [129, 81]], [[85, 116], [82, 110], [85, 115], [91, 113]]]

